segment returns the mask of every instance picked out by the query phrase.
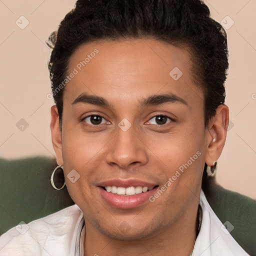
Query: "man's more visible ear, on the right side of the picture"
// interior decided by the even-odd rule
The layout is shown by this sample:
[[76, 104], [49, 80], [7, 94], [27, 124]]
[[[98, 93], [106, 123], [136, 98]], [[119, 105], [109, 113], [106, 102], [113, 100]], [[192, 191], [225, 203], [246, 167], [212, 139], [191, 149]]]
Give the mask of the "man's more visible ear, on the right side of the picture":
[[205, 163], [208, 166], [213, 165], [213, 162], [220, 156], [226, 140], [226, 132], [228, 127], [228, 107], [221, 104], [216, 109], [216, 114], [209, 121], [206, 131], [206, 154]]

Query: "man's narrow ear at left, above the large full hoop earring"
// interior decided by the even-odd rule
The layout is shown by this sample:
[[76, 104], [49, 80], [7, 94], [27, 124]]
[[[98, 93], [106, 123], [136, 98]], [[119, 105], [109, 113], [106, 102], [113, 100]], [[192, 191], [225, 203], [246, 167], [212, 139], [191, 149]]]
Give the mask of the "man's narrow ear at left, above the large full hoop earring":
[[63, 165], [62, 158], [62, 143], [61, 143], [61, 132], [58, 123], [58, 110], [56, 105], [51, 106], [50, 108], [51, 122], [50, 122], [50, 131], [51, 131], [51, 141], [56, 154], [57, 164]]

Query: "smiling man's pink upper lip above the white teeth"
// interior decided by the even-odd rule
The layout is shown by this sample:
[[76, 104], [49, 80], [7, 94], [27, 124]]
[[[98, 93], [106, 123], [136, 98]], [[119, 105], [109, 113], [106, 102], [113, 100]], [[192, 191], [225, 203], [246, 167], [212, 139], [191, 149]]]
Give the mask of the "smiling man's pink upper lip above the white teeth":
[[156, 183], [147, 182], [139, 179], [109, 179], [102, 181], [97, 184], [97, 186], [120, 186], [120, 187], [130, 187], [130, 186], [156, 186]]

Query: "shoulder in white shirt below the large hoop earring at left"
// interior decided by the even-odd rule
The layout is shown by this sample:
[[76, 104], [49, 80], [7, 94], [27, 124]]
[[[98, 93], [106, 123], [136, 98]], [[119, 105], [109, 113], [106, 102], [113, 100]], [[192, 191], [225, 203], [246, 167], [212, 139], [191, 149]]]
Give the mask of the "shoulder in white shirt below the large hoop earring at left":
[[0, 254], [67, 255], [81, 217], [81, 210], [74, 204], [28, 224], [21, 222], [0, 236]]

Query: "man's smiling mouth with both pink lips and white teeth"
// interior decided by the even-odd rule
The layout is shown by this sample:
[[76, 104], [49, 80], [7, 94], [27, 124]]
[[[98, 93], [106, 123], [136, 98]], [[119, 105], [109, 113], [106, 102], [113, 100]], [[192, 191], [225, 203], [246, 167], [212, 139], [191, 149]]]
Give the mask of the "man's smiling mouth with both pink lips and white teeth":
[[[159, 185], [141, 180], [109, 180], [97, 185], [101, 198], [109, 206], [122, 209], [136, 208], [149, 203], [149, 197]], [[151, 202], [150, 202], [151, 203]]]

